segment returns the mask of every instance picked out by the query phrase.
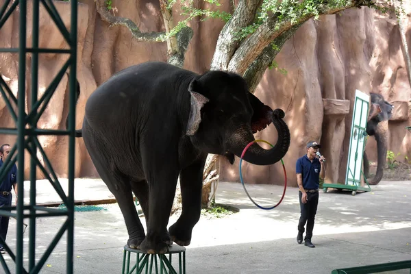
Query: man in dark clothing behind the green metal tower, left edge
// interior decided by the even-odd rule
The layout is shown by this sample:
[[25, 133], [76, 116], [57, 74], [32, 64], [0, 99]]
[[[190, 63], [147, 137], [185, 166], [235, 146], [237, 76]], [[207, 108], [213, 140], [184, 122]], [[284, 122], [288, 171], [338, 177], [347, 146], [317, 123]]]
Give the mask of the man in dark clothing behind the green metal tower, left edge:
[[[10, 145], [4, 144], [0, 147], [0, 169], [3, 166], [3, 163], [8, 158], [10, 153]], [[17, 166], [14, 164], [8, 174], [0, 182], [0, 208], [7, 208], [12, 206], [12, 188], [16, 193], [16, 203], [17, 203]], [[0, 237], [5, 240], [8, 231], [8, 224], [10, 218], [7, 216], [0, 216]], [[0, 244], [0, 252], [3, 254], [5, 250], [3, 245]]]

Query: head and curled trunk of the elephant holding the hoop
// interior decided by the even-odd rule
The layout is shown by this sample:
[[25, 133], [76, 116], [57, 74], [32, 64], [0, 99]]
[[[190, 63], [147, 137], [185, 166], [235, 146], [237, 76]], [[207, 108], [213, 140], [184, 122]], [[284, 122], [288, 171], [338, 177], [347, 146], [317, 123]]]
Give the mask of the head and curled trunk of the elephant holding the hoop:
[[186, 134], [195, 147], [225, 155], [233, 164], [234, 155], [240, 157], [255, 140], [253, 134], [273, 123], [278, 132], [275, 146], [263, 149], [253, 144], [243, 159], [251, 164], [274, 164], [288, 151], [290, 132], [282, 120], [284, 112], [264, 105], [239, 75], [211, 71], [192, 79], [188, 91], [191, 103]]

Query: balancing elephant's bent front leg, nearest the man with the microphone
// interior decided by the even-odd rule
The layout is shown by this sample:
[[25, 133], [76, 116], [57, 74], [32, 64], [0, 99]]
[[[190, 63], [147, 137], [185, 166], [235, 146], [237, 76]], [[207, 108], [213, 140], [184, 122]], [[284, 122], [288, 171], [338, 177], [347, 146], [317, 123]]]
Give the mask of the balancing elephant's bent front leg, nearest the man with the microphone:
[[183, 209], [177, 222], [169, 228], [171, 240], [177, 245], [190, 245], [192, 228], [200, 219], [205, 162], [199, 160], [180, 173]]

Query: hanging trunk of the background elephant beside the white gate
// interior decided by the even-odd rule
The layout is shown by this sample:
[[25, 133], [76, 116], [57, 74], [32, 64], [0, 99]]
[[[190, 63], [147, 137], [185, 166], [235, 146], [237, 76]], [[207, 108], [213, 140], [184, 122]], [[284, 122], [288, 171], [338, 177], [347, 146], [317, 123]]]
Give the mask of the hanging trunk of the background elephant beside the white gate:
[[388, 121], [378, 123], [375, 131], [375, 140], [377, 141], [377, 172], [375, 176], [369, 180], [369, 184], [378, 184], [384, 175], [384, 167], [387, 160], [388, 147]]

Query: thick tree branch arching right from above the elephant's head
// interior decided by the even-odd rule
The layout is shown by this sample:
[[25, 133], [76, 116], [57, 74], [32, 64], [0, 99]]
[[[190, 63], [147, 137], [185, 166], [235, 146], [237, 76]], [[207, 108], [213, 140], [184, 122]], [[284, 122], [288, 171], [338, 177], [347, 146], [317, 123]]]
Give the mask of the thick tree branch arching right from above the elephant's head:
[[[372, 6], [374, 5], [372, 0], [353, 0], [348, 1], [346, 5], [340, 7], [329, 7], [327, 5], [319, 5], [320, 10], [318, 15], [336, 14], [340, 11], [347, 10], [353, 7], [359, 6]], [[247, 67], [262, 53], [262, 51], [273, 41], [274, 39], [282, 36], [282, 34], [288, 32], [295, 25], [301, 25], [308, 21], [310, 18], [316, 16], [316, 14], [298, 14], [295, 16], [297, 20], [291, 21], [290, 17], [286, 17], [284, 21], [279, 21], [279, 13], [271, 15], [266, 22], [264, 22], [256, 32], [253, 32], [248, 38], [246, 38], [234, 53], [232, 59], [228, 65], [228, 71], [236, 72], [243, 75], [247, 70]]]

